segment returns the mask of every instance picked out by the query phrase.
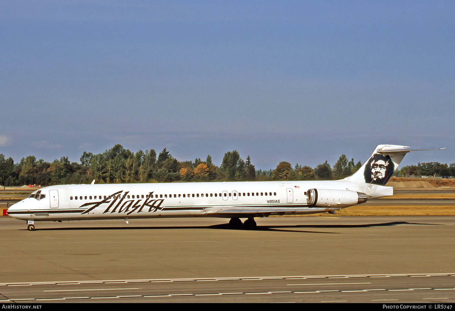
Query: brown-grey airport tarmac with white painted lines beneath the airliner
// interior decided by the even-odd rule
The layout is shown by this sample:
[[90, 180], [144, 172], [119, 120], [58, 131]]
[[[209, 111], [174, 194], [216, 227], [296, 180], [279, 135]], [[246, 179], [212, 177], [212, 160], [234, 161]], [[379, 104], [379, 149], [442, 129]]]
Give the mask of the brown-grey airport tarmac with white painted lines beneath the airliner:
[[0, 302], [455, 302], [455, 216], [256, 221], [3, 217]]

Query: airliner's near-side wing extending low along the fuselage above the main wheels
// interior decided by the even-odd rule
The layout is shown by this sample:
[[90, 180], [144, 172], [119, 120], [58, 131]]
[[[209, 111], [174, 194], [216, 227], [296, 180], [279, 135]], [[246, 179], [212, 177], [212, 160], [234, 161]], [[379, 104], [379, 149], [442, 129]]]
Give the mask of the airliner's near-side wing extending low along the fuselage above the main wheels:
[[245, 207], [245, 206], [222, 206], [222, 207], [207, 207], [204, 214], [209, 216], [222, 215], [257, 215], [268, 216], [271, 214], [315, 214], [328, 211], [340, 210], [339, 207]]

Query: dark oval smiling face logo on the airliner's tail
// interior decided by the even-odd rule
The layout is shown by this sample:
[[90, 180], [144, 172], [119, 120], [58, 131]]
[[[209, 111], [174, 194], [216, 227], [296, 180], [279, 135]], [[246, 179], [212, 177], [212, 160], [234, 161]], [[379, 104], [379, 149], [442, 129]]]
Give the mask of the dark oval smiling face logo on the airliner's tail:
[[375, 154], [369, 158], [364, 171], [365, 182], [385, 185], [394, 173], [394, 162], [389, 156]]

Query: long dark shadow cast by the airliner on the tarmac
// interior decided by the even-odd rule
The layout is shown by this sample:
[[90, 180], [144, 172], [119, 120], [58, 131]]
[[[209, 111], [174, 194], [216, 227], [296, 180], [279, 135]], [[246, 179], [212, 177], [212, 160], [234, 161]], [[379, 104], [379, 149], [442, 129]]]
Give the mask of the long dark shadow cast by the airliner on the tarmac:
[[[59, 230], [159, 230], [159, 229], [221, 229], [221, 230], [253, 230], [253, 231], [285, 231], [285, 232], [302, 232], [302, 233], [332, 233], [339, 232], [324, 232], [324, 231], [302, 231], [296, 230], [301, 228], [369, 228], [397, 225], [425, 225], [425, 226], [443, 226], [441, 224], [425, 224], [407, 221], [392, 221], [374, 224], [354, 224], [354, 225], [279, 225], [279, 226], [257, 226], [255, 229], [231, 229], [229, 224], [219, 224], [212, 226], [140, 226], [140, 227], [66, 227], [66, 228], [42, 228], [37, 231], [59, 231]], [[27, 230], [27, 229], [23, 229]]]

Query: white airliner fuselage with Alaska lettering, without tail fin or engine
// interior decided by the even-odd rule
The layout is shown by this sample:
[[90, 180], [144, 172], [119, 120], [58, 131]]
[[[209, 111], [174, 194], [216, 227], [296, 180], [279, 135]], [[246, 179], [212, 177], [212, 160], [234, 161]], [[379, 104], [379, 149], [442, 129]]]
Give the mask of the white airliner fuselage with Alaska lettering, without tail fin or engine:
[[[193, 216], [232, 218], [313, 214], [357, 204], [334, 198], [333, 203], [330, 199], [318, 207], [308, 206], [306, 192], [311, 188], [357, 191], [371, 198], [392, 195], [391, 187], [349, 181], [59, 185], [35, 191], [29, 198], [11, 206], [8, 214], [28, 221]], [[279, 212], [273, 212], [271, 208]], [[292, 212], [287, 212], [291, 208]], [[242, 213], [238, 214], [240, 209]]]

